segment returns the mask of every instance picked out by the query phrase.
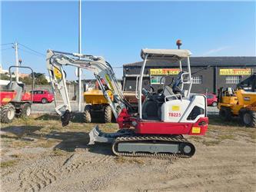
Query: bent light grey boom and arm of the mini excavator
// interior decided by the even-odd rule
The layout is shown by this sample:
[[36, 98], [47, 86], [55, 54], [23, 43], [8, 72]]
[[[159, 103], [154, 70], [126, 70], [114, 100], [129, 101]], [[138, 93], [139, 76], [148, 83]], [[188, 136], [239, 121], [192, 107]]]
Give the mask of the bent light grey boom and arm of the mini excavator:
[[[93, 72], [101, 91], [107, 99], [108, 104], [111, 106], [115, 118], [118, 118], [118, 108], [127, 108], [129, 105], [122, 94], [111, 65], [109, 65], [104, 58], [94, 55], [48, 50], [46, 66], [52, 85], [52, 91], [55, 95], [55, 111], [61, 115], [63, 126], [67, 125], [71, 119], [71, 104], [68, 97], [66, 74], [63, 69], [64, 65], [74, 66], [75, 68], [84, 68], [85, 70]], [[102, 84], [101, 79], [105, 81], [107, 88]], [[114, 101], [111, 101], [107, 90], [112, 92]], [[63, 104], [58, 105], [56, 103], [57, 91], [61, 94]], [[117, 106], [119, 107], [117, 108]]]

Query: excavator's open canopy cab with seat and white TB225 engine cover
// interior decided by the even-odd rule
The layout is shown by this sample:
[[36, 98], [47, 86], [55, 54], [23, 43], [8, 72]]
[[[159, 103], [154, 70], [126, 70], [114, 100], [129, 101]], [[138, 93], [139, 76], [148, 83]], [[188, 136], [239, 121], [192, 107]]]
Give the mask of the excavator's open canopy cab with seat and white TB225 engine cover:
[[[191, 68], [188, 50], [158, 50], [142, 49], [141, 58], [144, 63], [141, 67], [141, 75], [144, 74], [146, 62], [154, 59], [168, 60], [170, 63], [179, 62], [179, 73], [171, 84], [165, 84], [162, 91], [151, 92], [141, 88], [141, 78], [139, 79], [138, 89], [141, 88], [141, 94], [146, 96], [143, 104], [141, 103], [141, 94], [138, 90], [138, 108], [139, 118], [145, 121], [194, 121], [206, 115], [206, 98], [203, 95], [191, 94]], [[182, 70], [181, 61], [187, 58], [188, 71]], [[184, 86], [184, 85], [187, 86]], [[186, 87], [186, 88], [185, 88]], [[183, 117], [184, 116], [184, 117]]]

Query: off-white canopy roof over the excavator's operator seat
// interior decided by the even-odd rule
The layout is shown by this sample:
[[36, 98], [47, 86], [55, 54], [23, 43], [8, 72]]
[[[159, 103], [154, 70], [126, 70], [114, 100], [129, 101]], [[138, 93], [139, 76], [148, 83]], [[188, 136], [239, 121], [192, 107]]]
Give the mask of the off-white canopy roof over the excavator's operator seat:
[[171, 59], [179, 61], [190, 56], [191, 51], [187, 49], [141, 49], [141, 58], [145, 59], [145, 55], [148, 55], [148, 59]]

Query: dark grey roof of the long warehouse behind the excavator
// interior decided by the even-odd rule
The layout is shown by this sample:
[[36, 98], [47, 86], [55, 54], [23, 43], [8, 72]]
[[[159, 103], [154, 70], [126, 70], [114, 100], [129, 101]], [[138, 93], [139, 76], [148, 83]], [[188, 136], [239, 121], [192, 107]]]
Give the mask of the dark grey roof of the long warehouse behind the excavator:
[[[186, 61], [183, 61], [186, 65]], [[218, 66], [218, 67], [256, 67], [256, 57], [191, 57], [191, 66]], [[125, 64], [125, 67], [141, 67], [142, 61]], [[149, 60], [146, 66], [148, 67], [174, 67], [179, 66], [178, 62], [171, 63], [168, 60]]]

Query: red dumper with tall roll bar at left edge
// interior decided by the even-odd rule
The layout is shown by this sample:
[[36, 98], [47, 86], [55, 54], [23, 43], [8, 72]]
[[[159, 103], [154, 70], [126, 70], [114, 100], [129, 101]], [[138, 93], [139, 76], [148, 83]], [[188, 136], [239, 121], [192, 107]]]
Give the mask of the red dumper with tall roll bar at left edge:
[[25, 84], [12, 81], [12, 68], [28, 68], [32, 71], [32, 91], [34, 89], [34, 71], [25, 66], [11, 66], [9, 68], [10, 81], [2, 86], [0, 91], [0, 114], [2, 123], [11, 123], [16, 117], [29, 117], [32, 112], [33, 95], [25, 91]]

